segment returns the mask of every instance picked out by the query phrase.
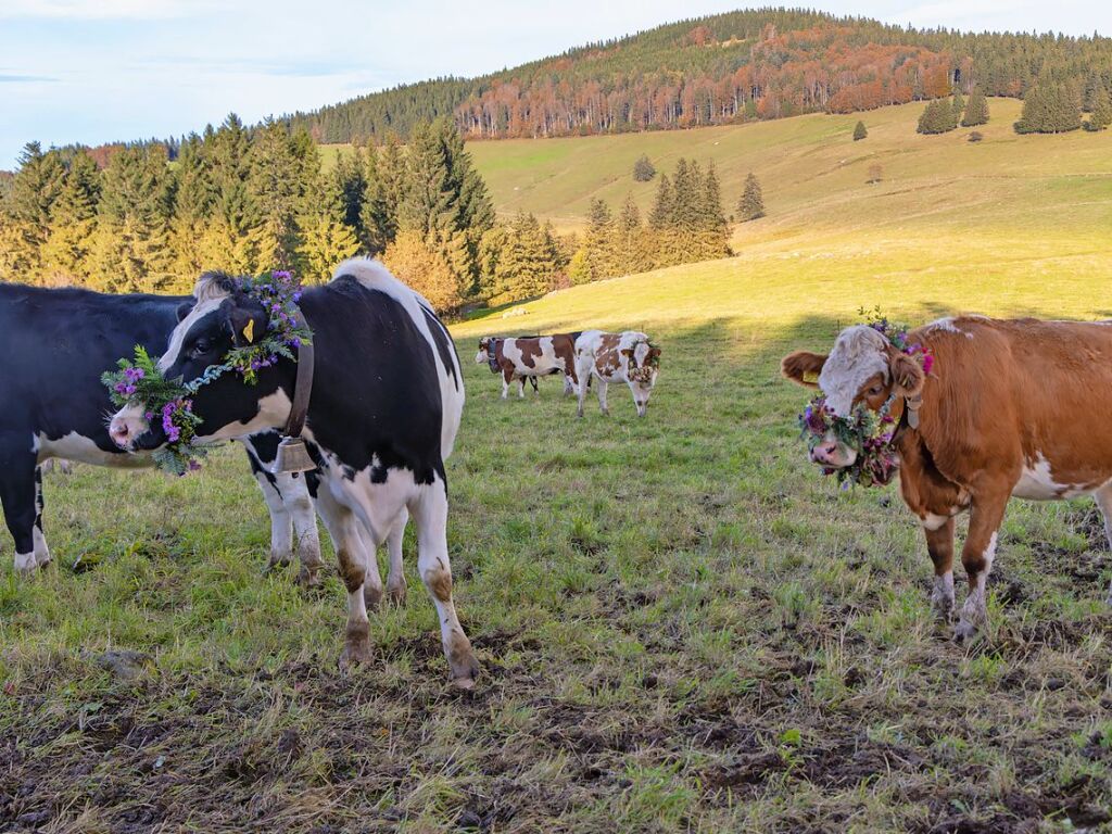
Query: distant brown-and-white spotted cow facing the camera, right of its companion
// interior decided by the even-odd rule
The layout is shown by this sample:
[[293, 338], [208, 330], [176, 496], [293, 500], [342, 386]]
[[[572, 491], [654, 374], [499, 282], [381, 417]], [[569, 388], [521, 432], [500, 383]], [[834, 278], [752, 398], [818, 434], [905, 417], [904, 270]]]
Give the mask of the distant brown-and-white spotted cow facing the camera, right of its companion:
[[627, 383], [637, 416], [645, 416], [661, 365], [661, 348], [651, 344], [645, 334], [587, 330], [576, 339], [575, 363], [576, 373], [585, 383], [579, 386], [579, 417], [583, 417], [583, 400], [592, 377], [598, 380], [598, 407], [603, 414], [610, 413], [606, 405], [606, 387], [610, 383]]

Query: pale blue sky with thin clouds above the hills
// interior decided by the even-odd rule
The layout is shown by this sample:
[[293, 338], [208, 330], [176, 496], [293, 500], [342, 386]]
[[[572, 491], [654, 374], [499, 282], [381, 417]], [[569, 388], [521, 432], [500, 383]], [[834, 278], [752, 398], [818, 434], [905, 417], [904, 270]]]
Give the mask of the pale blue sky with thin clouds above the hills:
[[[755, 6], [771, 6], [762, 0]], [[784, 4], [791, 6], [791, 0]], [[1109, 0], [795, 3], [916, 27], [1112, 36]], [[476, 76], [741, 0], [0, 0], [0, 169], [44, 147], [180, 136]]]

